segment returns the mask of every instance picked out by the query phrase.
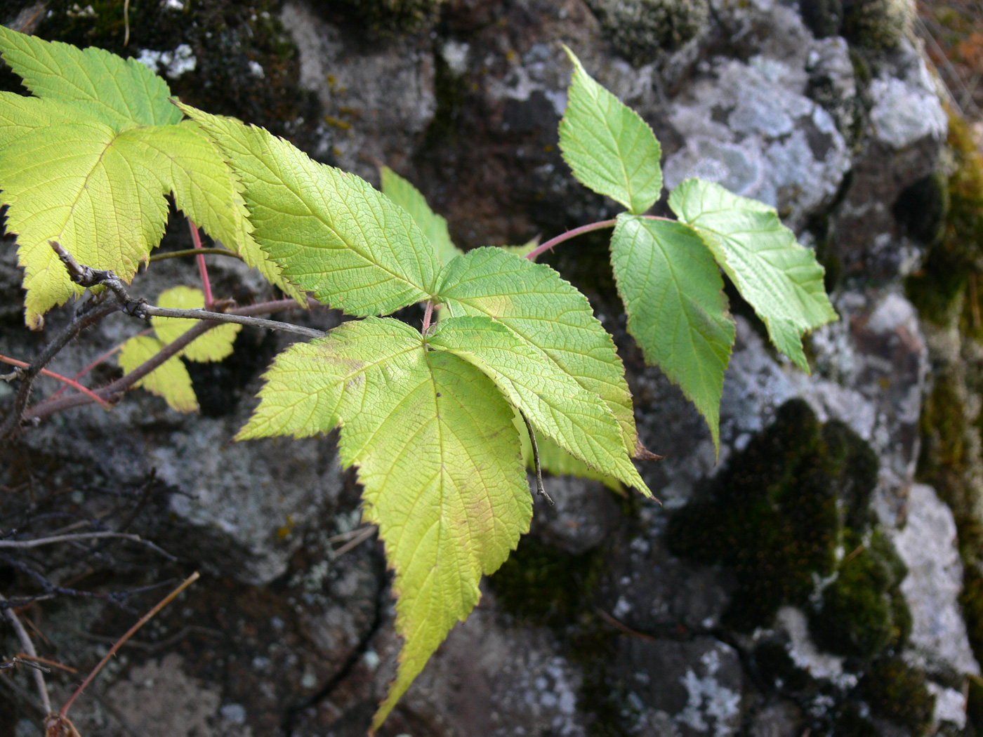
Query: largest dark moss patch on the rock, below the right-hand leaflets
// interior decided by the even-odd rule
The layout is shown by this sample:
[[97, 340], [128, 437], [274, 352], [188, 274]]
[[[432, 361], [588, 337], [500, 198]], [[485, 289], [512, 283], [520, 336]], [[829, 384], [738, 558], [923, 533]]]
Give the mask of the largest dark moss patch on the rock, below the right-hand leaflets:
[[805, 603], [814, 575], [833, 572], [843, 518], [866, 525], [876, 480], [877, 459], [862, 439], [791, 400], [703, 498], [673, 516], [667, 542], [676, 554], [733, 568], [724, 618], [747, 631], [783, 603]]

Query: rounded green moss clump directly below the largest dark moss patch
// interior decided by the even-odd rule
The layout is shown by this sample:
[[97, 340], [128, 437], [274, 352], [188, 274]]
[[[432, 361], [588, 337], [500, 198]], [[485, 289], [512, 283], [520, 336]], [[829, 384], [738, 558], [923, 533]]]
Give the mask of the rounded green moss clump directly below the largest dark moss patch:
[[869, 660], [901, 645], [911, 631], [899, 589], [907, 571], [880, 532], [866, 544], [854, 534], [845, 538], [850, 552], [813, 610], [810, 631], [824, 650]]

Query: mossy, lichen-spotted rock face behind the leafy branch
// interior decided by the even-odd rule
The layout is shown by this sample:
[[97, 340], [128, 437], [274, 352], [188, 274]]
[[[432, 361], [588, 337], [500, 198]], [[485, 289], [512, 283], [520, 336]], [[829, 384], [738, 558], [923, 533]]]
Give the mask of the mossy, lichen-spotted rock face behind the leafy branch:
[[[983, 729], [972, 696], [983, 565], [967, 552], [983, 511], [976, 287], [960, 282], [939, 307], [903, 281], [949, 288], [942, 276], [978, 254], [953, 246], [942, 258], [935, 238], [951, 220], [910, 216], [930, 210], [951, 175], [951, 121], [904, 31], [909, 4], [447, 0], [397, 3], [389, 23], [378, 15], [387, 3], [171, 0], [133, 6], [125, 49], [117, 5], [93, 3], [89, 16], [49, 3], [35, 30], [154, 52], [146, 58], [194, 104], [371, 181], [376, 163], [392, 166], [464, 248], [617, 211], [576, 185], [558, 152], [568, 43], [653, 126], [670, 186], [699, 175], [775, 204], [827, 266], [840, 320], [810, 338], [812, 375], [732, 302], [738, 338], [715, 458], [702, 419], [625, 332], [604, 239], [549, 255], [615, 336], [641, 438], [666, 456], [641, 469], [662, 503], [547, 479], [556, 506], [537, 501], [531, 533], [380, 734]], [[874, 6], [891, 6], [887, 26]], [[668, 26], [625, 27], [643, 11]], [[190, 246], [173, 217], [164, 248]], [[269, 295], [235, 262], [209, 271], [216, 292], [242, 304]], [[23, 328], [20, 279], [7, 239], [0, 353], [24, 358], [51, 332]], [[172, 259], [134, 291], [152, 299], [196, 279], [191, 259]], [[413, 309], [403, 316], [419, 324]], [[284, 318], [329, 329], [340, 315]], [[65, 319], [52, 312], [48, 331]], [[141, 329], [115, 315], [52, 368], [71, 375]], [[112, 413], [72, 410], [0, 448], [0, 532], [23, 526], [25, 509], [64, 525], [127, 522], [176, 558], [122, 542], [85, 560], [51, 553], [63, 586], [118, 592], [205, 573], [80, 701], [84, 735], [360, 735], [385, 693], [399, 649], [389, 577], [380, 543], [360, 534], [360, 489], [334, 437], [230, 442], [282, 336], [244, 330], [232, 358], [199, 369], [201, 417], [133, 392]], [[98, 371], [118, 375], [112, 362]], [[47, 381], [38, 396], [57, 388]], [[0, 593], [26, 581], [0, 557]], [[57, 596], [29, 616], [46, 655], [86, 670], [159, 595], [130, 595], [123, 608]], [[17, 652], [0, 637], [3, 653]], [[29, 687], [23, 671], [13, 678]], [[54, 701], [73, 679], [50, 677]], [[7, 683], [0, 737], [39, 734]]]

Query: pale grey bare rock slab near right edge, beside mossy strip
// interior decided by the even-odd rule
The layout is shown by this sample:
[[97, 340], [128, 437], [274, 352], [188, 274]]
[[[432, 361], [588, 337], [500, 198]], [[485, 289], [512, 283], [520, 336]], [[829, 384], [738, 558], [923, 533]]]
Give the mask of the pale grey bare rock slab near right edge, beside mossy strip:
[[959, 607], [962, 562], [955, 546], [953, 512], [931, 486], [911, 486], [907, 520], [894, 542], [908, 568], [901, 582], [911, 610], [905, 657], [929, 672], [978, 675], [980, 666], [969, 648]]

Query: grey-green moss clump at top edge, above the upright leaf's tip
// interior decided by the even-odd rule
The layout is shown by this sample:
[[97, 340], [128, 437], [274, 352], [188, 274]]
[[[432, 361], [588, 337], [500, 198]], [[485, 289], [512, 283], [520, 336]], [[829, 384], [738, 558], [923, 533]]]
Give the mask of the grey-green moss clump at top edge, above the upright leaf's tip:
[[707, 0], [587, 0], [614, 50], [641, 66], [707, 25]]

